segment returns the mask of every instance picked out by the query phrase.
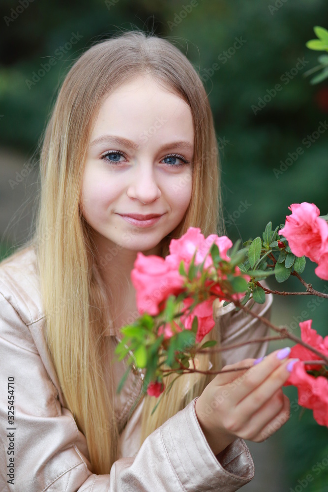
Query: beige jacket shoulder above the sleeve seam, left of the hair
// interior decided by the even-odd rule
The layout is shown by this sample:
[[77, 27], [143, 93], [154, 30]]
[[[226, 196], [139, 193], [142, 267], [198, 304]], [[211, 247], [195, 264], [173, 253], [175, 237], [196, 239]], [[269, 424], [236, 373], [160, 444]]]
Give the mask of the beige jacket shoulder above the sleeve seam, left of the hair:
[[30, 325], [44, 317], [37, 257], [33, 246], [13, 253], [0, 263], [0, 295]]

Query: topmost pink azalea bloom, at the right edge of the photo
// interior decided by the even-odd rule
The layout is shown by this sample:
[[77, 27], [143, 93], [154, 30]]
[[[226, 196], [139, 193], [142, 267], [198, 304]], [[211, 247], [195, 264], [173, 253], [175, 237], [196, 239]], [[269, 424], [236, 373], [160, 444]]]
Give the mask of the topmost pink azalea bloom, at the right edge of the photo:
[[[328, 224], [319, 218], [320, 210], [314, 203], [293, 203], [288, 207], [292, 215], [286, 216], [283, 234], [296, 256], [307, 256], [319, 263], [321, 255], [328, 253]], [[327, 272], [328, 266], [322, 267]], [[321, 271], [321, 270], [320, 270]]]

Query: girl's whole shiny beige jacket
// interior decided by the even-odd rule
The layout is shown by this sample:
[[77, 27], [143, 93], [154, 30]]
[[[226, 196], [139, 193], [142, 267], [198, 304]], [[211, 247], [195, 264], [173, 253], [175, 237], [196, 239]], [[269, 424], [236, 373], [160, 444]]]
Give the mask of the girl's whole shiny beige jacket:
[[[248, 483], [254, 466], [246, 444], [236, 439], [219, 461], [198, 423], [197, 398], [152, 432], [139, 449], [143, 400], [129, 419], [128, 414], [142, 380], [132, 372], [116, 401], [122, 429], [119, 459], [109, 475], [91, 473], [85, 436], [63, 405], [45, 344], [35, 260], [33, 249], [27, 248], [0, 266], [0, 491], [233, 492]], [[268, 296], [265, 305], [255, 306], [256, 312], [268, 317], [271, 303]], [[263, 324], [230, 306], [221, 308], [220, 315], [223, 345], [250, 334], [266, 335]], [[109, 361], [116, 344], [109, 330]], [[251, 344], [223, 352], [223, 364], [261, 357], [266, 349]], [[121, 376], [118, 370], [118, 382]], [[14, 425], [8, 423], [12, 406]]]

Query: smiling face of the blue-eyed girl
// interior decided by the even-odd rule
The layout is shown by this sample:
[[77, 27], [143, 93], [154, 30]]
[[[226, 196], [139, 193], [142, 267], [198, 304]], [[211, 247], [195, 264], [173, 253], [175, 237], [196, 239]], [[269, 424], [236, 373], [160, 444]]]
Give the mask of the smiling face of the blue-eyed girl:
[[191, 198], [189, 105], [139, 76], [104, 99], [89, 142], [81, 210], [98, 246], [156, 251]]

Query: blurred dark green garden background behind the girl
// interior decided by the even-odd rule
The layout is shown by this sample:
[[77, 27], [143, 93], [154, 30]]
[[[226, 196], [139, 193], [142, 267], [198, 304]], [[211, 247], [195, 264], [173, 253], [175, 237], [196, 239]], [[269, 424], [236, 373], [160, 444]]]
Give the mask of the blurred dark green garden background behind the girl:
[[[314, 26], [328, 28], [326, 0], [1, 0], [0, 24], [1, 257], [29, 234], [38, 142], [60, 82], [85, 49], [120, 29], [166, 37], [199, 72], [233, 241], [261, 235], [269, 220], [284, 223], [291, 203], [313, 202], [328, 213], [328, 80], [311, 85], [303, 76], [322, 54], [305, 43], [316, 37]], [[303, 277], [328, 292], [314, 266], [308, 260]], [[290, 278], [278, 288], [301, 285]], [[322, 301], [276, 296], [272, 320], [299, 334], [298, 322], [313, 319], [328, 335]], [[328, 430], [310, 410], [300, 412], [295, 388], [284, 391], [291, 418], [266, 442], [250, 443], [255, 478], [243, 490], [328, 492]]]

